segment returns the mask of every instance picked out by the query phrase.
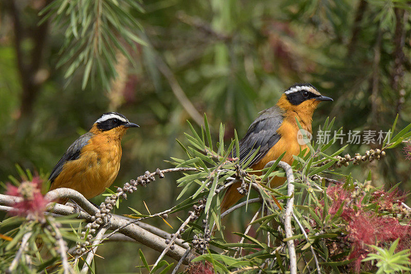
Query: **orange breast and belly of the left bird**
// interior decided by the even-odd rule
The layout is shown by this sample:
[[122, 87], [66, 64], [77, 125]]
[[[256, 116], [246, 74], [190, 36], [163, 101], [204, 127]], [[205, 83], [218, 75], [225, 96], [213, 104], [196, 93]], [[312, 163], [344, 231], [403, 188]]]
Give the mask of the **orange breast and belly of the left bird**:
[[95, 197], [113, 184], [120, 169], [121, 142], [109, 134], [90, 139], [77, 160], [67, 161], [51, 189], [71, 188], [87, 199]]

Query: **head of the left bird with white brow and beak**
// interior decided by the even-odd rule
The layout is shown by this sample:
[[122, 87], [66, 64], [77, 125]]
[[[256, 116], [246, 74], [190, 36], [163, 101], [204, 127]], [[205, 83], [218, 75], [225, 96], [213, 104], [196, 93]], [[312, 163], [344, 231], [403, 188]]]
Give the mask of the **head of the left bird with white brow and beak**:
[[139, 127], [138, 124], [129, 122], [124, 115], [117, 112], [103, 114], [91, 127], [94, 134], [109, 132], [114, 137], [123, 137], [129, 127]]

